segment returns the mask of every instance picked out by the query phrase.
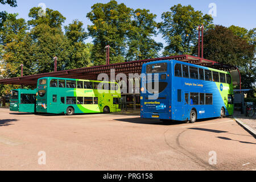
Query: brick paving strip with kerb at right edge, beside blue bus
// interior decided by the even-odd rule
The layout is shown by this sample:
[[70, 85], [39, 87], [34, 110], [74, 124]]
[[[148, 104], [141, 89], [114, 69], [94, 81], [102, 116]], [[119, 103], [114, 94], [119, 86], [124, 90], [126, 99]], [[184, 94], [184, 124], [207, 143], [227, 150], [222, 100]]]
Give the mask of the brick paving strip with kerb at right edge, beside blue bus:
[[242, 126], [247, 132], [253, 135], [256, 138], [256, 118], [255, 115], [253, 118], [246, 117], [245, 114], [234, 112], [234, 119], [238, 125]]

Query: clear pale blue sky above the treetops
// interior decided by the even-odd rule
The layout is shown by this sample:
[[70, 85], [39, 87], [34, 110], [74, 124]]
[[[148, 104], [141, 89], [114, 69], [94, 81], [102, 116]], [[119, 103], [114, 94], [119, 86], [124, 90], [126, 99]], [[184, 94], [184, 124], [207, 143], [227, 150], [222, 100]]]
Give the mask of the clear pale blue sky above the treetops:
[[[91, 11], [94, 3], [108, 3], [109, 0], [17, 0], [18, 7], [10, 7], [9, 5], [0, 5], [0, 11], [8, 13], [18, 13], [18, 18], [29, 20], [28, 13], [32, 7], [39, 6], [44, 3], [46, 8], [59, 11], [67, 19], [64, 25], [72, 23], [72, 20], [78, 19], [84, 23], [86, 29], [91, 22], [86, 18], [86, 14]], [[163, 12], [169, 11], [170, 7], [181, 3], [183, 6], [191, 5], [195, 10], [202, 11], [203, 14], [216, 13], [213, 16], [214, 24], [221, 24], [229, 27], [231, 25], [247, 28], [248, 30], [256, 28], [256, 1], [255, 0], [117, 0], [118, 3], [125, 3], [127, 7], [133, 9], [148, 9], [151, 13], [157, 15], [156, 22], [161, 22]], [[216, 9], [213, 9], [213, 5]], [[216, 10], [216, 11], [211, 11]], [[209, 12], [210, 11], [210, 12]], [[159, 35], [155, 38], [157, 42], [164, 40]], [[91, 42], [87, 39], [86, 42]]]

